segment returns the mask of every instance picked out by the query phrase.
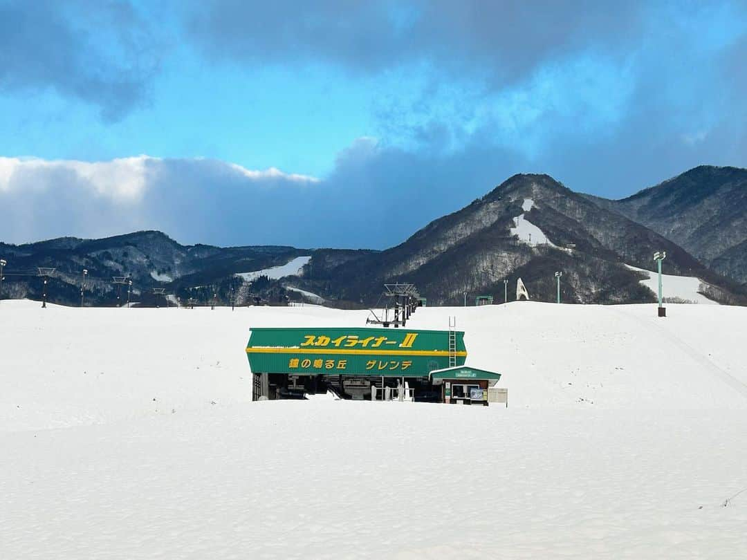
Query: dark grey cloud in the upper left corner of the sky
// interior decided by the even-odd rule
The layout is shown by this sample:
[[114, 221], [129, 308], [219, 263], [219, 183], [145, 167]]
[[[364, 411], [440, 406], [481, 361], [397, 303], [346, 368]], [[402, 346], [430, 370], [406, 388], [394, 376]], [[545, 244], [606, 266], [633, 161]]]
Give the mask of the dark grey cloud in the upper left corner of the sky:
[[0, 90], [52, 88], [119, 119], [148, 97], [156, 44], [128, 2], [0, 2]]

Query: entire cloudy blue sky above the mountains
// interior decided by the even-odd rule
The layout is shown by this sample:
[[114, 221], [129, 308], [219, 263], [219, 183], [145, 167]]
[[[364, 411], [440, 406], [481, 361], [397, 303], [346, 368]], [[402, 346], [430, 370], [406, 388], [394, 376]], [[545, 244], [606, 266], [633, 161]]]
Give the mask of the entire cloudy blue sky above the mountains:
[[385, 248], [747, 167], [747, 2], [0, 0], [0, 240]]

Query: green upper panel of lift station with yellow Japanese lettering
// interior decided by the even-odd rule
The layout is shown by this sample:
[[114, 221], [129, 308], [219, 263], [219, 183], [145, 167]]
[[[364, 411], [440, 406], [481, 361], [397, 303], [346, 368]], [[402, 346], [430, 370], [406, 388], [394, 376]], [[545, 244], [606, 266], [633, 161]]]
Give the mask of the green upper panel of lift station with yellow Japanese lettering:
[[[449, 365], [449, 332], [408, 329], [252, 329], [247, 343], [255, 373], [427, 377]], [[456, 332], [456, 363], [467, 357]]]

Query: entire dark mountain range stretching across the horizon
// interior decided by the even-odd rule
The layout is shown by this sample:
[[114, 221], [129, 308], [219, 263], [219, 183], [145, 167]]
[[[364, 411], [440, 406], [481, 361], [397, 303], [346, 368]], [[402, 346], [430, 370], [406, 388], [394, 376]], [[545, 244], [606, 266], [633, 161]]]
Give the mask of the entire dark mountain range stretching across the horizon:
[[[652, 255], [662, 250], [666, 273], [700, 279], [699, 291], [717, 302], [747, 305], [747, 169], [696, 167], [622, 200], [576, 193], [549, 175], [514, 175], [384, 251], [182, 246], [139, 231], [0, 243], [0, 258], [8, 261], [5, 297], [39, 298], [37, 267], [55, 267], [49, 300], [68, 304], [79, 305], [86, 268], [91, 305], [116, 305], [122, 286], [112, 278], [121, 276], [143, 305], [163, 304], [152, 293], [161, 287], [172, 299], [202, 303], [362, 307], [376, 305], [382, 284], [394, 281], [416, 284], [429, 304], [460, 305], [465, 293], [502, 301], [503, 280], [512, 299], [519, 277], [533, 299], [553, 301], [556, 271], [564, 302], [652, 302], [635, 268], [654, 270]], [[273, 273], [300, 257], [309, 258], [297, 273]]]

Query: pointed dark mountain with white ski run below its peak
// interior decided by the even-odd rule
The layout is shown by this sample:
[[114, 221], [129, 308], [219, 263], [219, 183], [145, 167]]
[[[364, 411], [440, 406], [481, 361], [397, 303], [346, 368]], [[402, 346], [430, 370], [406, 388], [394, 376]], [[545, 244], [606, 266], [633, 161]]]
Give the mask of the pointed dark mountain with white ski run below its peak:
[[574, 193], [548, 175], [515, 175], [486, 196], [428, 224], [399, 246], [330, 261], [317, 252], [303, 286], [327, 299], [374, 302], [384, 281], [411, 281], [429, 302], [456, 304], [464, 293], [502, 301], [523, 279], [530, 296], [581, 303], [647, 302], [645, 275], [655, 251], [666, 272], [697, 277], [711, 299], [746, 302], [745, 290], [708, 270], [686, 250], [645, 225]]

